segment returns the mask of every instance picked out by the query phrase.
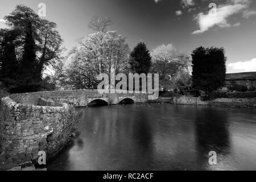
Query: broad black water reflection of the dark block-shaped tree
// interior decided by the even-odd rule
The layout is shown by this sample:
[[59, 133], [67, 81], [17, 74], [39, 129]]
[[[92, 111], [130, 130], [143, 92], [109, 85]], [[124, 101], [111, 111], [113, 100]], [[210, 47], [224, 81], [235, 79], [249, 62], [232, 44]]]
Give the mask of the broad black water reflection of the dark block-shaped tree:
[[203, 108], [197, 113], [196, 142], [200, 161], [208, 163], [209, 152], [228, 155], [230, 151], [229, 123], [225, 111]]

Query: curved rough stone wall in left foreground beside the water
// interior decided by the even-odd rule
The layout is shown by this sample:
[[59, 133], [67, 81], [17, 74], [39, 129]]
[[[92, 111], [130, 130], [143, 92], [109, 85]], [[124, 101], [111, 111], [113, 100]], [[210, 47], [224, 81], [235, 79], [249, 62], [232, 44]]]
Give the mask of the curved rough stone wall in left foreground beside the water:
[[[73, 107], [64, 103], [55, 105], [44, 99], [36, 104], [36, 97], [16, 96], [25, 98], [26, 104], [18, 104], [9, 97], [1, 99], [0, 169], [38, 159], [41, 150], [51, 157], [61, 150], [72, 134]], [[29, 102], [40, 106], [28, 105]]]

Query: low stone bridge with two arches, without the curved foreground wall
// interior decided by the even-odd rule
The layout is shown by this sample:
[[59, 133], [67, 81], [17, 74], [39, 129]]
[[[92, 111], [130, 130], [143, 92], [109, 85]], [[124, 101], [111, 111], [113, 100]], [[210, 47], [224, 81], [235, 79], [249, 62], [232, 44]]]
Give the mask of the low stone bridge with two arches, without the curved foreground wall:
[[15, 102], [37, 105], [39, 98], [54, 101], [55, 103], [67, 103], [76, 107], [88, 106], [93, 101], [105, 101], [109, 105], [119, 104], [123, 100], [131, 100], [134, 103], [148, 101], [146, 93], [99, 93], [98, 90], [63, 90], [35, 93], [13, 94], [9, 96]]

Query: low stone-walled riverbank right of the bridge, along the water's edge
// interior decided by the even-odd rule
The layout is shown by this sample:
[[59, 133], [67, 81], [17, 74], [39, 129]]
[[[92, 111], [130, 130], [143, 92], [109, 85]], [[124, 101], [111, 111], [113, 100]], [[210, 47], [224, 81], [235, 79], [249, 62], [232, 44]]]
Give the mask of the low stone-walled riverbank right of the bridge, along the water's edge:
[[201, 101], [200, 97], [175, 96], [159, 97], [158, 100], [151, 100], [151, 103], [168, 103], [176, 105], [204, 105], [204, 106], [221, 106], [221, 107], [238, 107], [238, 108], [256, 108], [255, 98], [216, 98], [211, 101]]

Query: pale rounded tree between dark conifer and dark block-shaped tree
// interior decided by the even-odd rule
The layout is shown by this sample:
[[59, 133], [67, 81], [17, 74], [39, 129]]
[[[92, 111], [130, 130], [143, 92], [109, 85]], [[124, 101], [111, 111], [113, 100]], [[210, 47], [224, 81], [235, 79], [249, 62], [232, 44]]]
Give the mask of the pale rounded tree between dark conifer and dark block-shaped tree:
[[152, 72], [159, 73], [159, 86], [164, 91], [177, 89], [177, 74], [184, 72], [189, 74], [190, 57], [180, 53], [172, 45], [156, 47], [152, 53]]

